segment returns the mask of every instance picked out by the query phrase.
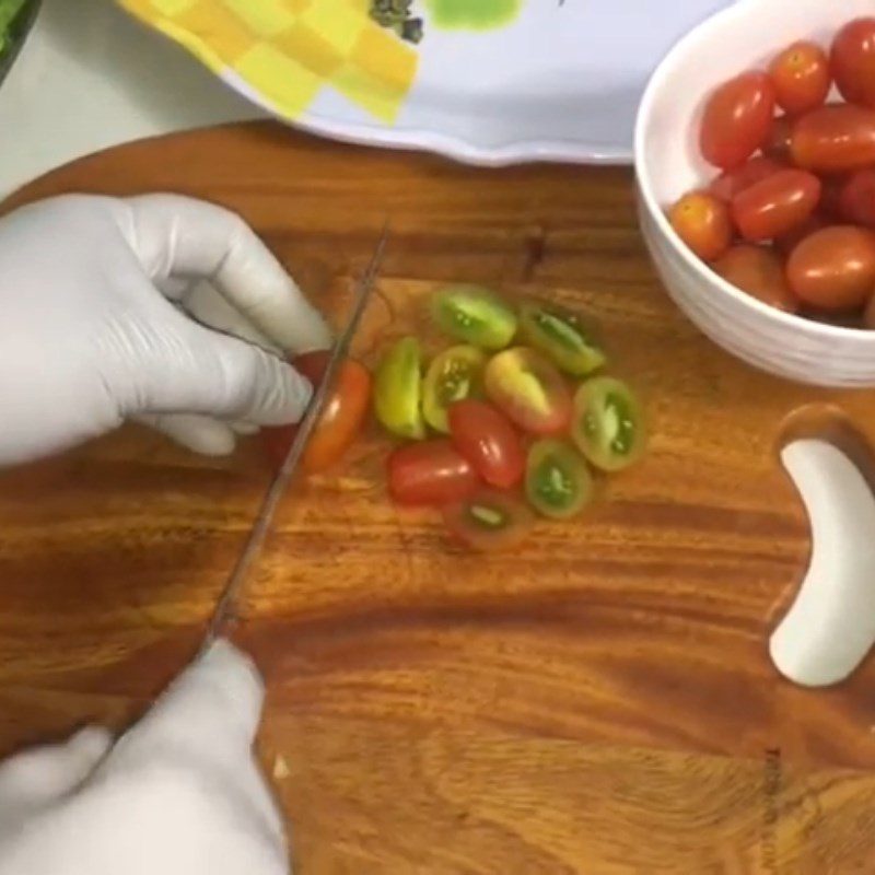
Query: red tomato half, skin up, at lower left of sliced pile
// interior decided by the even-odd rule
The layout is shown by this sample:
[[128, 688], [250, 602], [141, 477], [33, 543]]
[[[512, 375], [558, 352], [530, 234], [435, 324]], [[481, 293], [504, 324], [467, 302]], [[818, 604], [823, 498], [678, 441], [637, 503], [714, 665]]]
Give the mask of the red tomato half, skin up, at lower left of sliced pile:
[[386, 467], [393, 501], [407, 506], [460, 501], [478, 487], [471, 464], [445, 438], [400, 446]]

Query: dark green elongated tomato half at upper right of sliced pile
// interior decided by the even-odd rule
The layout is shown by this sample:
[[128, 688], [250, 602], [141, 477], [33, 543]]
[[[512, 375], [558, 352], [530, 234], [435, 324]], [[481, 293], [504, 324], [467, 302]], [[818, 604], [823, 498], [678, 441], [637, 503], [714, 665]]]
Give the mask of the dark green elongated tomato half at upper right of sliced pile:
[[605, 363], [605, 353], [576, 313], [552, 304], [526, 302], [520, 308], [520, 334], [529, 346], [573, 376]]

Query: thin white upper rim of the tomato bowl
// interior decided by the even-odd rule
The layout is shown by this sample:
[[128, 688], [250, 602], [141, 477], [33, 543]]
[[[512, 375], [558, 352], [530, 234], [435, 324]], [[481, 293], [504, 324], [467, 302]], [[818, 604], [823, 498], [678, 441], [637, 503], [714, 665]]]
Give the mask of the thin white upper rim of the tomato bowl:
[[775, 326], [792, 328], [795, 330], [803, 330], [812, 338], [829, 339], [829, 340], [849, 340], [854, 339], [860, 343], [870, 343], [875, 346], [875, 330], [871, 328], [852, 328], [840, 325], [830, 325], [828, 323], [815, 322], [814, 319], [806, 319], [794, 313], [784, 313], [777, 307], [763, 303], [752, 295], [746, 294], [740, 289], [737, 289], [731, 282], [723, 279], [716, 271], [709, 265], [699, 259], [689, 247], [684, 243], [680, 236], [672, 228], [668, 218], [666, 217], [665, 209], [658, 203], [653, 192], [648, 174], [644, 172], [644, 153], [645, 153], [645, 137], [644, 129], [653, 115], [653, 107], [656, 96], [662, 93], [666, 83], [670, 80], [673, 67], [677, 59], [695, 47], [701, 36], [712, 31], [719, 31], [724, 22], [733, 19], [734, 16], [745, 15], [754, 9], [761, 8], [759, 0], [738, 0], [737, 3], [725, 9], [719, 10], [713, 15], [705, 19], [685, 34], [675, 45], [668, 50], [665, 57], [660, 61], [656, 69], [648, 80], [644, 94], [639, 104], [638, 116], [635, 117], [634, 129], [634, 172], [638, 189], [648, 212], [656, 223], [657, 229], [663, 234], [665, 240], [672, 246], [672, 249], [680, 256], [687, 267], [693, 271], [702, 280], [714, 284], [723, 294], [728, 295], [737, 301], [742, 306], [763, 316], [766, 319], [772, 322]]

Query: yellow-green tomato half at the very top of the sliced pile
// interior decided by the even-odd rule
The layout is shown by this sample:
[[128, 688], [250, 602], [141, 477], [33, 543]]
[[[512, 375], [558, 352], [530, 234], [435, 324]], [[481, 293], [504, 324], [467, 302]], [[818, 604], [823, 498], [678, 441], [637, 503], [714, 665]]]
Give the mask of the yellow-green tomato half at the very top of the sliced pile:
[[447, 285], [435, 294], [432, 312], [444, 334], [482, 349], [504, 349], [516, 334], [513, 308], [483, 285]]

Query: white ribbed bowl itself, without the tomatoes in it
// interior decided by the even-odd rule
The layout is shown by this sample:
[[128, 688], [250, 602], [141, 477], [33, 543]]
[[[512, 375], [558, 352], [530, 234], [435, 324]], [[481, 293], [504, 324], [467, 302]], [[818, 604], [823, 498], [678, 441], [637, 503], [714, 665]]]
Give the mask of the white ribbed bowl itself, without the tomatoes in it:
[[740, 292], [675, 234], [665, 208], [715, 171], [698, 152], [708, 94], [780, 49], [810, 38], [828, 46], [848, 21], [875, 15], [875, 0], [739, 0], [680, 40], [653, 74], [635, 126], [639, 214], [668, 293], [715, 343], [780, 376], [825, 386], [875, 386], [875, 331], [781, 313]]

